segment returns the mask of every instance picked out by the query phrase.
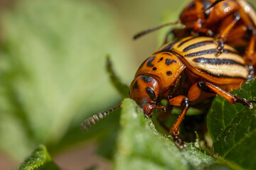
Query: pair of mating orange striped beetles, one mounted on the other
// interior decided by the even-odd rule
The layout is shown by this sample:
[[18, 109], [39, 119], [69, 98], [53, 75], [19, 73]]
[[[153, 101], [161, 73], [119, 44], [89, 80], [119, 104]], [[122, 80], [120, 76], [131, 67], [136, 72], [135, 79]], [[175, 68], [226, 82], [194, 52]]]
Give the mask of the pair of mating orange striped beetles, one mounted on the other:
[[[181, 115], [169, 130], [180, 146], [178, 130], [189, 106], [196, 106], [219, 94], [230, 103], [242, 103], [252, 108], [255, 101], [247, 101], [229, 92], [239, 89], [255, 76], [250, 66], [255, 65], [256, 60], [255, 20], [252, 7], [243, 0], [222, 3], [220, 0], [192, 1], [181, 13], [180, 21], [176, 22], [183, 23], [182, 29], [173, 31], [177, 40], [159, 48], [141, 64], [130, 85], [129, 98], [134, 99], [146, 115], [152, 115], [155, 109], [166, 110], [160, 105], [161, 99], [167, 99], [171, 106], [183, 106]], [[188, 36], [193, 33], [215, 35], [216, 38]], [[243, 40], [245, 35], [250, 35], [249, 42]], [[237, 50], [224, 42], [234, 47], [245, 46], [247, 52], [241, 57]], [[110, 111], [116, 108], [119, 106]], [[82, 128], [86, 130], [110, 111], [88, 118]]]

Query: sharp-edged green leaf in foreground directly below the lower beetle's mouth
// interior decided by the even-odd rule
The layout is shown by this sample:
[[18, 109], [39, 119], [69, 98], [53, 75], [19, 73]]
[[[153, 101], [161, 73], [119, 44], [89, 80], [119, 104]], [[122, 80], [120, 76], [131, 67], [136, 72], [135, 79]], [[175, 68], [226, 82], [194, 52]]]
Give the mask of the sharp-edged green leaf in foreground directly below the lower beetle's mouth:
[[120, 123], [114, 169], [193, 169], [213, 162], [191, 144], [178, 149], [132, 99], [123, 101]]

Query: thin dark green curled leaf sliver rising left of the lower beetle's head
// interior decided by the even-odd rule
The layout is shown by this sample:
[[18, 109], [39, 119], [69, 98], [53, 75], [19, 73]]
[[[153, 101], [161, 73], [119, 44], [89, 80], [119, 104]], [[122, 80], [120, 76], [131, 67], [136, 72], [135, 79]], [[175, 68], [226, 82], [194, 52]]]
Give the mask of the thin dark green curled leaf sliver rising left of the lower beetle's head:
[[112, 62], [110, 60], [110, 56], [107, 55], [107, 72], [110, 75], [110, 81], [112, 82], [113, 86], [119, 94], [122, 96], [122, 98], [127, 98], [129, 94], [129, 87], [126, 84], [123, 84], [122, 81], [119, 80], [119, 77], [117, 77], [117, 74], [115, 74], [114, 69], [112, 67]]

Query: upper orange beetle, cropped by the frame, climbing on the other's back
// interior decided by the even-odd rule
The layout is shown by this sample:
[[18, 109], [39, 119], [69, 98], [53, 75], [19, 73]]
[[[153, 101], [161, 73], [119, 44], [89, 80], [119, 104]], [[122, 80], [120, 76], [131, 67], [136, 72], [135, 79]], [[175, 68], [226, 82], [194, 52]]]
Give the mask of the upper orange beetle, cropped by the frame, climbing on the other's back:
[[[233, 47], [247, 47], [242, 50], [247, 64], [256, 64], [256, 12], [245, 0], [193, 0], [181, 12], [180, 19], [175, 23], [138, 33], [134, 39], [154, 30], [177, 23], [183, 28], [171, 30], [176, 38], [200, 33], [200, 35], [214, 36], [218, 42], [216, 48], [223, 52], [224, 42]], [[167, 37], [170, 33], [166, 35]], [[247, 40], [247, 37], [250, 37]], [[166, 43], [165, 40], [165, 43]]]

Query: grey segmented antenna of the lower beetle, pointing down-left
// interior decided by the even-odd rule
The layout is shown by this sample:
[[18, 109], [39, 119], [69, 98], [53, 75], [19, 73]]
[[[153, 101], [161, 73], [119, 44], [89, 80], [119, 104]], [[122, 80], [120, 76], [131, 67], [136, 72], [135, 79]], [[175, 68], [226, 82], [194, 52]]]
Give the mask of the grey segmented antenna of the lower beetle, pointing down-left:
[[117, 108], [120, 108], [122, 104], [119, 106], [115, 106], [114, 108], [110, 108], [110, 110], [105, 111], [103, 113], [98, 113], [96, 115], [92, 115], [90, 118], [85, 119], [82, 124], [81, 128], [84, 132], [87, 132], [88, 129], [92, 127], [92, 125], [95, 125], [97, 122], [99, 122], [101, 119], [107, 117], [107, 115], [110, 114], [110, 112], [116, 110]]

